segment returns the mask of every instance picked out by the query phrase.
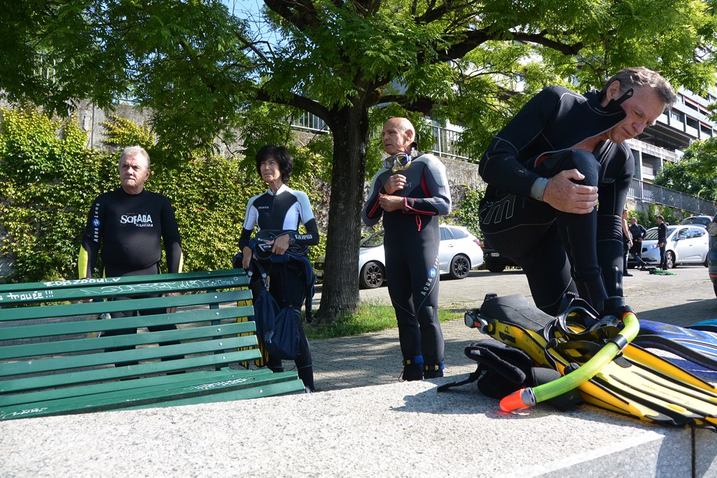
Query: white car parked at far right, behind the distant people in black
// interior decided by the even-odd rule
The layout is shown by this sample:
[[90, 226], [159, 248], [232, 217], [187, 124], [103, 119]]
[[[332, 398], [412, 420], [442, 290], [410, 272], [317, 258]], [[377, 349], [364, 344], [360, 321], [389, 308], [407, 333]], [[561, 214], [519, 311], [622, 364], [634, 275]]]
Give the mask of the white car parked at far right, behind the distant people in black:
[[[668, 269], [677, 264], [704, 264], [707, 266], [709, 251], [707, 229], [696, 224], [668, 226], [667, 254]], [[657, 228], [647, 229], [642, 240], [642, 260], [651, 265], [660, 265], [660, 248], [657, 247]]]

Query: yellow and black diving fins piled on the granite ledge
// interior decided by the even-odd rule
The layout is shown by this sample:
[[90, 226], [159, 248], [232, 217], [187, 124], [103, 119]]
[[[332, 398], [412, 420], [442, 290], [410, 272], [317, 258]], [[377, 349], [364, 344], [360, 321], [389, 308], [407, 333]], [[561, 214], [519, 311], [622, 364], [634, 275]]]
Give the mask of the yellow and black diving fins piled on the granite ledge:
[[[528, 353], [538, 365], [562, 374], [589, 360], [602, 347], [610, 328], [589, 330], [590, 307], [577, 300], [564, 312], [569, 329], [586, 340], [556, 343], [556, 317], [530, 305], [523, 295], [487, 297], [478, 310], [483, 333]], [[614, 326], [619, 329], [619, 323]], [[569, 332], [569, 334], [572, 334]], [[603, 339], [596, 338], [604, 335]], [[560, 345], [560, 346], [559, 346]], [[579, 386], [592, 405], [635, 416], [644, 421], [684, 426], [690, 424], [717, 431], [717, 388], [688, 371], [637, 345], [628, 344], [621, 356], [605, 365]]]

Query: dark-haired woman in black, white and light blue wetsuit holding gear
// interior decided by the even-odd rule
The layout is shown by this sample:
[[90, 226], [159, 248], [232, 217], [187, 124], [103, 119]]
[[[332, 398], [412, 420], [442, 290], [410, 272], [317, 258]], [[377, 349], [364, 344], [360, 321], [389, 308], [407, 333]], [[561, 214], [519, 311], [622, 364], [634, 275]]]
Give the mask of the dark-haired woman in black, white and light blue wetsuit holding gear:
[[[242, 267], [250, 270], [252, 258], [258, 259], [250, 247], [250, 239], [254, 229], [259, 231], [275, 231], [276, 238], [267, 242], [271, 253], [283, 256], [290, 248], [299, 246], [315, 246], [318, 244], [318, 226], [308, 196], [302, 191], [295, 191], [286, 183], [293, 170], [293, 158], [282, 146], [266, 145], [257, 152], [257, 173], [267, 183], [269, 189], [247, 202], [244, 213], [242, 235], [239, 238], [239, 250], [242, 252]], [[303, 224], [306, 233], [299, 234], [299, 225]], [[307, 295], [307, 284], [313, 287], [315, 277], [313, 271], [308, 272], [300, 261], [272, 262], [262, 261], [269, 276], [269, 292], [279, 307], [294, 307], [301, 310]], [[309, 267], [310, 269], [310, 267]], [[311, 277], [307, 277], [311, 274]], [[252, 274], [254, 280], [260, 280], [260, 274]], [[307, 305], [307, 317], [310, 317], [310, 303]], [[300, 315], [297, 315], [300, 317]], [[313, 392], [313, 362], [311, 350], [303, 324], [297, 324], [299, 333], [299, 350], [295, 360], [297, 374], [305, 388]], [[269, 356], [267, 366], [275, 372], [284, 371], [280, 358]]]

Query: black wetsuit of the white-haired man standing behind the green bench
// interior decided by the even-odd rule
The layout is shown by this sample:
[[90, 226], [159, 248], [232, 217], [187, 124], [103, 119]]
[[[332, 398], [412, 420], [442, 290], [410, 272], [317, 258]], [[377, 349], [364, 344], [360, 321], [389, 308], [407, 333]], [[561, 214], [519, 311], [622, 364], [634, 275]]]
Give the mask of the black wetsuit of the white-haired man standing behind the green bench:
[[[160, 193], [143, 189], [138, 194], [128, 194], [122, 188], [100, 194], [92, 202], [87, 215], [85, 233], [82, 234], [82, 247], [77, 269], [80, 279], [92, 277], [92, 271], [102, 259], [102, 274], [105, 277], [158, 274], [162, 257], [162, 242], [166, 252], [168, 272], [181, 272], [182, 252], [179, 228], [174, 218], [169, 199]], [[113, 300], [126, 300], [138, 297], [158, 297], [158, 294], [128, 295]], [[112, 317], [130, 317], [136, 315], [154, 315], [165, 313], [166, 309], [127, 310], [113, 312]], [[174, 330], [174, 325], [154, 325], [148, 328], [156, 330]], [[120, 329], [105, 332], [105, 335], [124, 335], [137, 333], [137, 329]], [[168, 342], [171, 345], [177, 342]], [[113, 350], [130, 350], [113, 348]], [[171, 360], [165, 358], [163, 360]], [[128, 362], [132, 365], [136, 362]]]

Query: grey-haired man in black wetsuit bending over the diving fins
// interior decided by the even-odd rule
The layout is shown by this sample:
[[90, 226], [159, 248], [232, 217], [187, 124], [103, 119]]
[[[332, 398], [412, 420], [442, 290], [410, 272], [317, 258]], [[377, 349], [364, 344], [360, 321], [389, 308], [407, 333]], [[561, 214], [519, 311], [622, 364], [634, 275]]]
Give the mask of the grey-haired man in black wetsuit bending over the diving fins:
[[547, 87], [485, 152], [481, 229], [523, 268], [545, 312], [555, 315], [576, 292], [601, 314], [625, 306], [620, 216], [635, 169], [625, 140], [675, 100], [667, 80], [643, 67], [585, 95]]

